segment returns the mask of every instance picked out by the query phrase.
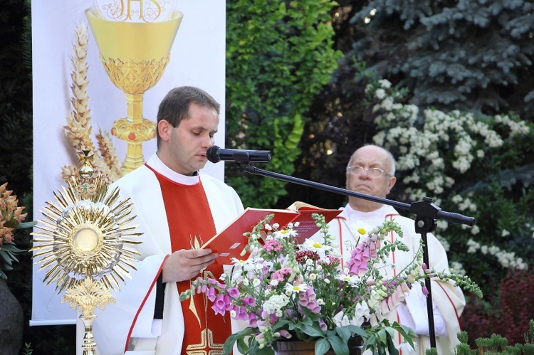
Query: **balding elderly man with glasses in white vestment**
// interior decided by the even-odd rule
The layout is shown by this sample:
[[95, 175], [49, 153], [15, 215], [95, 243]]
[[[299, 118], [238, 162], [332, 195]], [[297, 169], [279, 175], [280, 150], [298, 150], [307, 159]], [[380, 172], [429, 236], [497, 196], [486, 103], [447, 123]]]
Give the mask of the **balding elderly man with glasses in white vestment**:
[[[390, 152], [382, 147], [366, 145], [357, 149], [350, 158], [347, 165], [346, 189], [356, 191], [360, 194], [367, 194], [386, 198], [393, 188], [397, 178], [395, 174], [395, 161]], [[395, 268], [385, 267], [384, 272], [394, 275], [395, 270], [402, 270], [402, 267], [410, 263], [414, 258], [414, 253], [419, 248], [421, 235], [415, 232], [414, 221], [410, 218], [400, 216], [392, 207], [374, 201], [367, 201], [362, 198], [349, 197], [349, 202], [342, 208], [340, 215], [330, 222], [329, 233], [338, 238], [338, 250], [346, 261], [350, 258], [350, 250], [355, 248], [357, 243], [358, 228], [375, 228], [382, 224], [384, 220], [394, 220], [402, 227], [404, 237], [401, 239], [409, 247], [408, 252], [396, 250], [390, 253], [388, 265], [395, 265]], [[449, 261], [443, 245], [431, 233], [427, 235], [429, 249], [429, 267], [435, 270], [449, 270]], [[389, 235], [393, 242], [398, 236], [396, 233]], [[322, 238], [314, 236], [315, 238]], [[431, 282], [432, 300], [434, 306], [434, 329], [436, 335], [436, 350], [440, 355], [454, 354], [456, 344], [459, 340], [456, 333], [460, 332], [459, 317], [464, 310], [465, 298], [459, 287], [454, 287], [452, 282], [441, 282], [432, 280]], [[425, 349], [429, 349], [429, 323], [426, 310], [426, 296], [419, 284], [416, 284], [409, 293], [407, 299], [399, 304], [397, 309], [389, 312], [390, 322], [399, 322], [414, 329], [418, 339], [416, 351], [412, 354], [424, 354]], [[402, 344], [399, 334], [395, 334], [396, 345]], [[405, 349], [405, 348], [404, 348]], [[401, 354], [407, 354], [407, 349]]]

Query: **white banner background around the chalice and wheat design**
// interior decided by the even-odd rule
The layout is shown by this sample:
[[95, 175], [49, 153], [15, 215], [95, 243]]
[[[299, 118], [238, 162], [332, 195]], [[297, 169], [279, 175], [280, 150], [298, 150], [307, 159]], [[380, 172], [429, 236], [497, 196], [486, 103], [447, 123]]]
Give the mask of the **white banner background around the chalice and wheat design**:
[[[112, 84], [99, 59], [99, 48], [88, 25], [85, 10], [105, 4], [140, 4], [132, 0], [38, 0], [31, 3], [33, 45], [33, 216], [43, 219], [46, 201], [55, 202], [53, 191], [66, 186], [61, 178], [63, 166], [79, 166], [78, 154], [66, 137], [67, 116], [72, 110], [71, 58], [75, 31], [85, 26], [88, 35], [88, 107], [91, 138], [99, 129], [110, 132], [115, 120], [127, 117], [125, 93]], [[143, 1], [145, 4], [150, 1]], [[155, 4], [155, 1], [151, 1]], [[168, 4], [173, 1], [158, 1]], [[156, 121], [157, 107], [164, 95], [182, 85], [197, 86], [209, 92], [221, 104], [221, 122], [215, 140], [224, 147], [224, 78], [226, 2], [223, 0], [179, 0], [175, 9], [183, 19], [172, 43], [170, 60], [162, 78], [145, 92], [143, 117]], [[121, 43], [124, 44], [124, 43]], [[120, 161], [126, 156], [127, 143], [112, 136]], [[142, 144], [145, 160], [155, 152], [156, 139]], [[224, 164], [206, 165], [205, 171], [224, 179]], [[31, 325], [75, 324], [76, 314], [56, 285], [45, 285], [45, 272], [33, 267], [33, 308]]]

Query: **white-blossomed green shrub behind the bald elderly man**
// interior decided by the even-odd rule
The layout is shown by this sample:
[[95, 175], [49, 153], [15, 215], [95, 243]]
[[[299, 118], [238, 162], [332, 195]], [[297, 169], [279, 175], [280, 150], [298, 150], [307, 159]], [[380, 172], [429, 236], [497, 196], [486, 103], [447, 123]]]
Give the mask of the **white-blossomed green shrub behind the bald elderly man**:
[[[438, 221], [434, 234], [457, 272], [484, 283], [533, 262], [533, 124], [515, 115], [488, 117], [402, 103], [387, 80], [366, 88], [381, 145], [397, 159], [397, 196], [433, 198], [444, 211], [476, 218], [473, 227]], [[530, 155], [530, 157], [529, 157]]]

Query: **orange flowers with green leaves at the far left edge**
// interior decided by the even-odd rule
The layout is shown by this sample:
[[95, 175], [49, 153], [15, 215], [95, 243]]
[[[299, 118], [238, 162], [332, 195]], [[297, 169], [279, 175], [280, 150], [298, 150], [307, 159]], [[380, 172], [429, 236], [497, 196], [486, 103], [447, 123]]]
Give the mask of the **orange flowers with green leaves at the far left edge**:
[[16, 254], [25, 250], [16, 248], [14, 243], [14, 229], [26, 218], [22, 213], [24, 207], [19, 207], [19, 200], [13, 191], [6, 189], [7, 183], [0, 185], [0, 278], [6, 280], [4, 271], [13, 270], [13, 262], [18, 262]]

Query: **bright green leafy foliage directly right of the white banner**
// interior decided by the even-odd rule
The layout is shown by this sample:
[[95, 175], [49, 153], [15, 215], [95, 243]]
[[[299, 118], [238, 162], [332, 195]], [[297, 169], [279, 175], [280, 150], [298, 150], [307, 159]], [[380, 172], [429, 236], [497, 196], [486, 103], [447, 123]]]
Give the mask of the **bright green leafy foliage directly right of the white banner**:
[[[258, 166], [291, 175], [311, 102], [337, 68], [330, 0], [226, 3], [226, 147], [266, 149]], [[246, 206], [272, 207], [286, 183], [226, 164]]]

